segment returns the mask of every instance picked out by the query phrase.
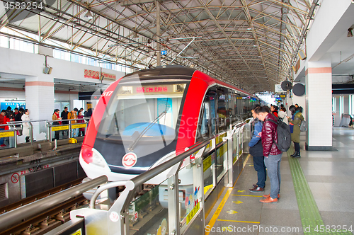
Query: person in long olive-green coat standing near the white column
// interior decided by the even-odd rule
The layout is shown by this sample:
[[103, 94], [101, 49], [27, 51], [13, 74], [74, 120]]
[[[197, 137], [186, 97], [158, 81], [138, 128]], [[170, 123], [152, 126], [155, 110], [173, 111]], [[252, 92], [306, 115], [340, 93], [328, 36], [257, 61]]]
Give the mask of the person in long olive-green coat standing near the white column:
[[304, 120], [304, 116], [302, 116], [302, 108], [297, 107], [295, 108], [294, 105], [289, 107], [291, 111], [292, 117], [287, 117], [290, 125], [290, 132], [291, 132], [291, 140], [294, 142], [295, 147], [295, 154], [292, 154], [292, 157], [299, 158], [300, 157], [300, 125], [301, 122]]

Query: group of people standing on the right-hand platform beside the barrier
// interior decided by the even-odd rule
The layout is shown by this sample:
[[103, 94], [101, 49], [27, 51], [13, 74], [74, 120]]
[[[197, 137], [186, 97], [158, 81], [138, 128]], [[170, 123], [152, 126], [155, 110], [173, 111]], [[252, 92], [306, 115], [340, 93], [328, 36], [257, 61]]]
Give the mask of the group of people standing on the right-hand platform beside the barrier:
[[[278, 112], [278, 110], [280, 110]], [[300, 125], [304, 121], [302, 116], [302, 107], [291, 105], [289, 107], [291, 116], [287, 115], [284, 105], [261, 106], [254, 105], [252, 115], [254, 119], [253, 136], [249, 142], [249, 153], [253, 156], [253, 166], [257, 172], [257, 183], [249, 189], [251, 193], [261, 193], [265, 188], [265, 180], [270, 179], [270, 194], [260, 202], [273, 203], [278, 202], [280, 198], [280, 162], [282, 151], [278, 148], [278, 123], [285, 122], [290, 126], [291, 139], [294, 143], [294, 158], [300, 157]]]

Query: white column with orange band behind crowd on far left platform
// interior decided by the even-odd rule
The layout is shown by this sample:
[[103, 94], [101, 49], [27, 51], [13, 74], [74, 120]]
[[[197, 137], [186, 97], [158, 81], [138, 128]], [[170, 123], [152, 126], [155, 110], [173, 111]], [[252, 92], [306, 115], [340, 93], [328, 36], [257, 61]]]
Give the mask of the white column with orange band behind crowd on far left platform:
[[[30, 120], [52, 120], [54, 110], [54, 78], [50, 74], [25, 78], [25, 105]], [[45, 122], [34, 122], [35, 139], [45, 139]]]

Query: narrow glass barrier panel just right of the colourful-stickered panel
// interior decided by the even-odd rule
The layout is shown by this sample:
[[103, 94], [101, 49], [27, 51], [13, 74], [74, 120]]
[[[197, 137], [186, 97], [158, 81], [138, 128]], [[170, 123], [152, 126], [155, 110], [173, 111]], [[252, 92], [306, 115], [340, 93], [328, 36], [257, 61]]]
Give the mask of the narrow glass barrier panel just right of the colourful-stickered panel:
[[214, 182], [214, 172], [212, 168], [215, 167], [215, 152], [212, 151], [210, 154], [206, 154], [202, 160], [203, 165], [203, 178], [204, 178], [204, 198], [212, 192], [216, 183]]

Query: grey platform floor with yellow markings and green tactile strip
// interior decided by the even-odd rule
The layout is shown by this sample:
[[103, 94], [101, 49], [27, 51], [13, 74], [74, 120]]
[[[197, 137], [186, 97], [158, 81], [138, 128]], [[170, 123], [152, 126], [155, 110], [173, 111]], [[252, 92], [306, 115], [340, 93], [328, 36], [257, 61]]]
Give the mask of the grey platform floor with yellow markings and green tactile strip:
[[[207, 217], [205, 234], [354, 234], [344, 230], [354, 230], [354, 130], [333, 127], [333, 151], [305, 151], [304, 142], [303, 134], [300, 159], [282, 156], [278, 203], [263, 204], [263, 193], [249, 192], [257, 182], [250, 157], [234, 188], [224, 190]], [[294, 164], [302, 183], [296, 183], [301, 177], [294, 175]], [[265, 184], [269, 194], [270, 181]], [[308, 186], [308, 193], [299, 186]]]

